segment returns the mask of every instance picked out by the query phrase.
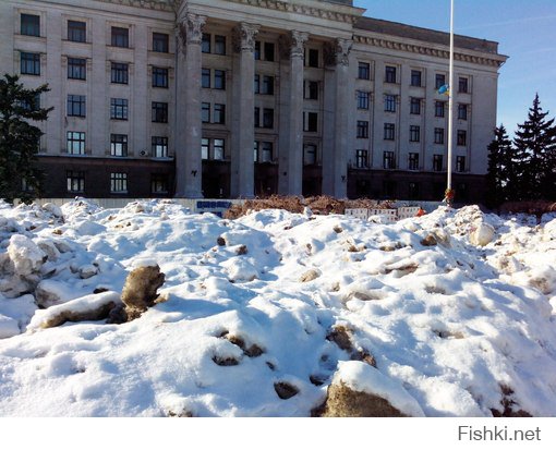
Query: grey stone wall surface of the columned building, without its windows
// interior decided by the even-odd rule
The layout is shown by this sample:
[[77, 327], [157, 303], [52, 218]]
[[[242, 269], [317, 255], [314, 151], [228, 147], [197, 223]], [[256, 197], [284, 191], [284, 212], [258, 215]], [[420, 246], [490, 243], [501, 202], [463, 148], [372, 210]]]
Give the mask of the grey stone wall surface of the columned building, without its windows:
[[[86, 173], [86, 195], [147, 195], [153, 177], [161, 175], [166, 177], [168, 188], [155, 194], [172, 195], [174, 179], [197, 177], [197, 173], [203, 179], [204, 195], [233, 195], [233, 184], [241, 179], [238, 172], [251, 163], [245, 163], [249, 160], [245, 155], [251, 150], [235, 148], [240, 144], [234, 137], [251, 130], [254, 141], [259, 143], [259, 151], [263, 144], [270, 143], [271, 155], [267, 158], [259, 153], [254, 170], [245, 172], [254, 178], [253, 187], [242, 191], [240, 186], [240, 195], [281, 192], [403, 197], [416, 192], [423, 198], [437, 197], [446, 174], [448, 111], [447, 97], [437, 93], [435, 77], [445, 74], [448, 80], [446, 34], [361, 17], [363, 10], [354, 8], [351, 1], [292, 2], [289, 11], [273, 7], [271, 1], [264, 9], [256, 2], [237, 0], [189, 1], [178, 4], [177, 10], [171, 3], [162, 0], [113, 3], [108, 0], [8, 0], [0, 3], [0, 25], [4, 25], [0, 39], [1, 71], [20, 73], [21, 51], [40, 53], [40, 75], [22, 75], [22, 81], [31, 87], [48, 83], [51, 89], [43, 105], [53, 106], [55, 110], [46, 124], [40, 125], [46, 133], [40, 146], [41, 165], [48, 169], [47, 173], [56, 177], [56, 180], [49, 179], [47, 195], [75, 194], [68, 192], [64, 180], [68, 171]], [[39, 37], [21, 34], [22, 13], [40, 16]], [[176, 32], [177, 23], [184, 23], [188, 14], [205, 17], [202, 31], [211, 39], [213, 51], [201, 56], [202, 69], [210, 70], [211, 88], [197, 89], [196, 99], [183, 98], [177, 88], [183, 69], [177, 62], [181, 39]], [[69, 20], [86, 23], [85, 42], [68, 40]], [[273, 78], [274, 94], [255, 94], [253, 104], [245, 104], [237, 83], [244, 70], [239, 64], [244, 60], [234, 50], [234, 42], [241, 39], [237, 35], [241, 23], [258, 26], [255, 40], [261, 42], [263, 56], [253, 62], [253, 71], [259, 76], [261, 84], [265, 76]], [[130, 48], [111, 46], [112, 26], [129, 29]], [[290, 56], [291, 39], [288, 39], [292, 31], [306, 34], [301, 74], [291, 69], [294, 57]], [[153, 33], [169, 36], [168, 52], [154, 51]], [[215, 53], [215, 36], [226, 38], [225, 54]], [[346, 47], [339, 48], [341, 41], [349, 44], [349, 52], [346, 53]], [[480, 186], [481, 175], [486, 173], [486, 146], [496, 125], [498, 68], [506, 58], [497, 53], [496, 42], [458, 37], [456, 44], [459, 46], [456, 49], [456, 84], [459, 77], [466, 77], [469, 92], [455, 93], [452, 170], [457, 173], [455, 185], [457, 183], [464, 191], [470, 185]], [[274, 46], [271, 60], [264, 54], [265, 45]], [[192, 49], [198, 51], [198, 47], [191, 46], [195, 44], [184, 44], [185, 53]], [[316, 66], [311, 66], [314, 64], [310, 63], [309, 49], [318, 54]], [[68, 78], [69, 58], [86, 59], [85, 81]], [[111, 83], [112, 62], [129, 64], [128, 84]], [[370, 80], [359, 77], [361, 62], [370, 64]], [[395, 83], [385, 81], [386, 66], [396, 68]], [[168, 69], [167, 88], [153, 87], [153, 68]], [[343, 68], [347, 78], [341, 75]], [[422, 73], [422, 86], [411, 86], [414, 70]], [[225, 71], [225, 89], [214, 88], [215, 71]], [[304, 88], [292, 92], [293, 80], [299, 76], [303, 78]], [[183, 77], [181, 80], [189, 83]], [[316, 83], [316, 99], [307, 98], [305, 86], [309, 82]], [[370, 93], [368, 109], [358, 108], [358, 90]], [[86, 97], [85, 118], [68, 115], [68, 95]], [[385, 111], [386, 95], [395, 96], [395, 112]], [[303, 97], [302, 111], [292, 110], [295, 96]], [[421, 99], [420, 114], [410, 111], [412, 97]], [[128, 99], [128, 120], [110, 119], [112, 98]], [[168, 123], [152, 121], [153, 101], [168, 105]], [[194, 145], [197, 148], [183, 148], [177, 142], [179, 132], [185, 126], [183, 118], [177, 115], [180, 101], [185, 106], [185, 121], [190, 120], [189, 102], [210, 106], [210, 119], [198, 123], [198, 130], [188, 122], [188, 133], [196, 133], [189, 142], [198, 142], [198, 146]], [[436, 101], [446, 101], [443, 118], [435, 114]], [[467, 120], [458, 119], [458, 104], [468, 105]], [[214, 123], [215, 105], [225, 105], [225, 123]], [[238, 122], [239, 117], [244, 117], [245, 108], [251, 107], [259, 110], [261, 126], [254, 129]], [[274, 113], [271, 126], [264, 126], [265, 110]], [[316, 113], [316, 130], [307, 129], [310, 113]], [[295, 137], [292, 120], [303, 121], [303, 117], [302, 135]], [[368, 122], [367, 137], [358, 137], [358, 121]], [[395, 125], [394, 139], [385, 139], [385, 123]], [[418, 142], [410, 141], [411, 125], [420, 127]], [[438, 127], [445, 130], [444, 144], [435, 143], [435, 129]], [[457, 145], [458, 130], [467, 133], [466, 145]], [[85, 133], [84, 156], [68, 155], [68, 132]], [[111, 134], [128, 135], [126, 157], [111, 155]], [[155, 158], [152, 154], [152, 136], [168, 138], [167, 157]], [[174, 169], [182, 167], [174, 166], [174, 159], [186, 158], [188, 151], [200, 151], [202, 138], [209, 139], [208, 159], [202, 167]], [[215, 143], [220, 141], [225, 143], [223, 158], [215, 160]], [[297, 143], [295, 148], [291, 143]], [[303, 154], [304, 146], [316, 148], [314, 163], [303, 165], [303, 161], [312, 162]], [[244, 156], [241, 165], [234, 168], [232, 155], [240, 150]], [[362, 165], [361, 158], [358, 160], [358, 150], [366, 150], [366, 163]], [[389, 169], [384, 167], [385, 151], [395, 155], [395, 165]], [[410, 153], [419, 155], [416, 168], [409, 166]], [[434, 155], [444, 157], [440, 171], [433, 167]], [[456, 166], [458, 156], [466, 158], [463, 168]], [[126, 192], [110, 193], [107, 170], [129, 174]]]

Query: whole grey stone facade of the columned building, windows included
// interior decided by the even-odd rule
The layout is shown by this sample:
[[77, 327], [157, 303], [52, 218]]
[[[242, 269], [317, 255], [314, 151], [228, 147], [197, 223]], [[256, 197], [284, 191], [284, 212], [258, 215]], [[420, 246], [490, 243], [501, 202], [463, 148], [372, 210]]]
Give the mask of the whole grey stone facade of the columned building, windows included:
[[[0, 70], [48, 83], [49, 197], [440, 199], [446, 33], [350, 0], [4, 0]], [[484, 194], [497, 42], [456, 36], [454, 186]]]

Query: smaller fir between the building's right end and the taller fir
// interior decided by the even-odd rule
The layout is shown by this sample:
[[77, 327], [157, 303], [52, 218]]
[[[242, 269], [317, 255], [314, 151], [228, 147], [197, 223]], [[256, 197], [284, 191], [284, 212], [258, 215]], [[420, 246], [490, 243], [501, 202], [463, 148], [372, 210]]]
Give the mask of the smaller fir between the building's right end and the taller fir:
[[488, 145], [487, 206], [499, 206], [515, 196], [515, 171], [511, 141], [500, 124], [494, 130], [494, 139]]

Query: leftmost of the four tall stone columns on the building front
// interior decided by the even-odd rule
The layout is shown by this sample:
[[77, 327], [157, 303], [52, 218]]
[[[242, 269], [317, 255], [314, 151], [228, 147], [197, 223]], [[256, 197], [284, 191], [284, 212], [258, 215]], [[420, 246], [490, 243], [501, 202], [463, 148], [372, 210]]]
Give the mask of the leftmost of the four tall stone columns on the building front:
[[176, 196], [202, 197], [201, 39], [206, 17], [186, 13], [177, 29]]

